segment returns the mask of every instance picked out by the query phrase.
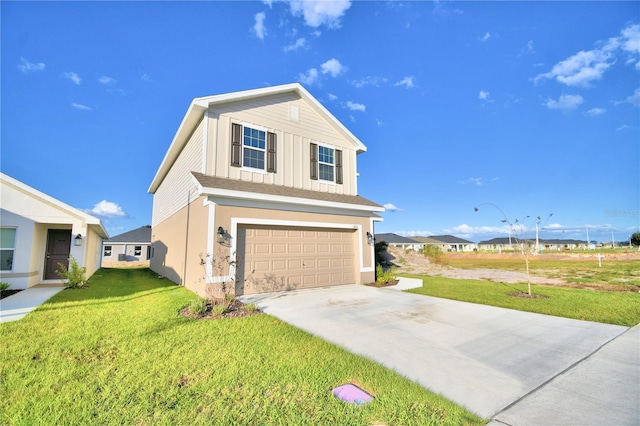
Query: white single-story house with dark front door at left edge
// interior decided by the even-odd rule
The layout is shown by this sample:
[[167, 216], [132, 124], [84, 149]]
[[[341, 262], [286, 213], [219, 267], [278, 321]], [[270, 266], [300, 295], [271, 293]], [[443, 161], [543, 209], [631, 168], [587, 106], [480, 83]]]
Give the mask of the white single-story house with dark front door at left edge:
[[70, 256], [89, 278], [108, 237], [100, 219], [0, 173], [0, 281], [12, 289], [62, 283]]

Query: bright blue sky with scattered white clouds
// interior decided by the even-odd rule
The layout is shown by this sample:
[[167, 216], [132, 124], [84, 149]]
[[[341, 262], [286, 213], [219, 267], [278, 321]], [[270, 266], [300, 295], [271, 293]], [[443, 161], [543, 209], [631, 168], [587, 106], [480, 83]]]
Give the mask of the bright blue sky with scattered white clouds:
[[639, 230], [638, 2], [0, 8], [1, 169], [112, 236], [151, 222], [193, 98], [294, 81], [367, 145], [377, 232], [479, 241], [507, 236], [505, 216], [530, 216], [527, 236], [540, 216], [544, 238]]

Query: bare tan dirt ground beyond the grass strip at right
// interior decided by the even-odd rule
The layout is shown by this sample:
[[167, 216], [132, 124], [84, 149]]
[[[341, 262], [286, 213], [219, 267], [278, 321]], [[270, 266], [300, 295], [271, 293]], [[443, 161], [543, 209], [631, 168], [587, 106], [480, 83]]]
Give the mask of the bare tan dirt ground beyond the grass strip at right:
[[[405, 274], [419, 274], [419, 275], [437, 275], [448, 278], [457, 279], [476, 279], [476, 280], [488, 280], [498, 281], [506, 283], [527, 282], [526, 272], [519, 271], [507, 271], [499, 269], [460, 269], [450, 266], [443, 266], [434, 264], [429, 261], [424, 255], [416, 253], [412, 250], [404, 251], [397, 247], [389, 247], [389, 254], [395, 257], [393, 263], [398, 265], [397, 272]], [[468, 256], [464, 254], [447, 254], [448, 257], [456, 256]], [[512, 258], [512, 254], [474, 254], [474, 258]], [[579, 261], [585, 259], [594, 259], [597, 261], [598, 255], [594, 254], [545, 254], [545, 259], [549, 260], [567, 260], [567, 261]], [[618, 253], [607, 255], [606, 260], [640, 260], [640, 253]], [[524, 258], [523, 258], [524, 263]], [[575, 283], [569, 283], [561, 278], [550, 278], [544, 276], [544, 271], [531, 271], [531, 282], [534, 284], [546, 284], [546, 285], [558, 285], [566, 287], [590, 287], [598, 288], [600, 290], [614, 290], [624, 291], [620, 286], [612, 286], [610, 289], [607, 285], [576, 285]], [[606, 288], [605, 288], [606, 287]], [[637, 289], [636, 289], [637, 291]]]

